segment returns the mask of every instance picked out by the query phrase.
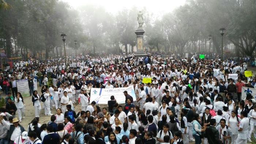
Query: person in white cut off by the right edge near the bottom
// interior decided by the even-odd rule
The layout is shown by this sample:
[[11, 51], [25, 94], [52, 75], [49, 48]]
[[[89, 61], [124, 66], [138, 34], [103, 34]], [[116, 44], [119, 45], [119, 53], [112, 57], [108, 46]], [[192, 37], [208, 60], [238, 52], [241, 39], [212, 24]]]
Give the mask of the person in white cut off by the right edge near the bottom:
[[251, 136], [252, 136], [253, 129], [255, 129], [254, 137], [256, 137], [256, 105], [253, 106], [253, 110], [249, 111], [248, 118], [250, 119], [250, 131], [249, 131], [248, 141], [252, 142]]

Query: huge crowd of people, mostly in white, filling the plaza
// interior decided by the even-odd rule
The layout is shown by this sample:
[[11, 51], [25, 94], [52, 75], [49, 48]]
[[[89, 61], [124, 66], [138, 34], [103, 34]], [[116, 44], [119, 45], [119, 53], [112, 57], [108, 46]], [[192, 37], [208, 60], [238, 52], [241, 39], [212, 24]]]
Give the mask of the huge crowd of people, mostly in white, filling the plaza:
[[[15, 62], [0, 72], [6, 95], [0, 108], [0, 144], [246, 144], [256, 128], [255, 95], [242, 99], [243, 59], [68, 57]], [[237, 74], [232, 79], [229, 74]], [[152, 78], [143, 83], [143, 78]], [[35, 118], [26, 126], [16, 80], [28, 79]], [[34, 90], [39, 83], [40, 92]], [[133, 86], [125, 103], [110, 95], [108, 107], [90, 101], [91, 88]], [[3, 94], [2, 94], [3, 96]], [[43, 104], [41, 106], [41, 104]], [[80, 105], [81, 109], [74, 110]], [[48, 124], [39, 117], [49, 116]], [[56, 111], [56, 112], [55, 112]], [[56, 114], [52, 114], [56, 113]], [[256, 131], [254, 131], [256, 137]]]

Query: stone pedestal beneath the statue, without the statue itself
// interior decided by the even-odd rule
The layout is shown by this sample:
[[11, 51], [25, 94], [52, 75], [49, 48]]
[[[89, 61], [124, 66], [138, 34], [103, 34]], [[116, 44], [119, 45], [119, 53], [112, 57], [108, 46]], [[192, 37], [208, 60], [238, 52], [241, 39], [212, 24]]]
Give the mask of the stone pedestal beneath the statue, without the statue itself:
[[144, 50], [144, 33], [145, 31], [142, 29], [142, 27], [139, 27], [136, 31], [136, 46], [137, 46], [137, 52], [135, 52], [135, 57], [145, 57], [147, 54]]

